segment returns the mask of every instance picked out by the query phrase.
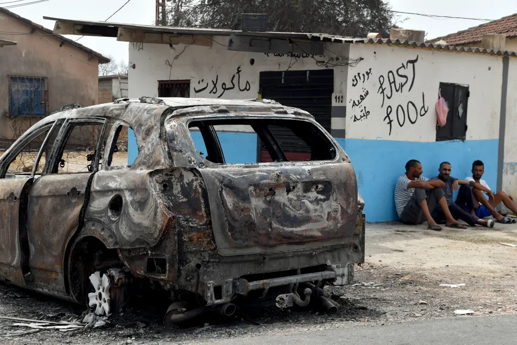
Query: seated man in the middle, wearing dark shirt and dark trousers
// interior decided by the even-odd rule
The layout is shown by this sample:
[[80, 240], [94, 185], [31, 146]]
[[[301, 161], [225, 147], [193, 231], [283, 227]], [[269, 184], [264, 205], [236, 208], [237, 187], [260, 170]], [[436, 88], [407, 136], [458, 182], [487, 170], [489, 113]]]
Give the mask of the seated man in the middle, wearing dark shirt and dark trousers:
[[[489, 219], [489, 220], [479, 219], [478, 217], [466, 212], [465, 209], [461, 205], [455, 204], [452, 201], [452, 192], [453, 192], [453, 190], [460, 189], [459, 185], [462, 186], [461, 187], [462, 193], [464, 193], [465, 188], [468, 189], [468, 193], [470, 193], [470, 189], [468, 188], [467, 181], [465, 181], [464, 179], [458, 179], [458, 178], [452, 177], [450, 175], [451, 170], [452, 170], [451, 163], [443, 162], [440, 164], [440, 167], [438, 169], [438, 172], [439, 172], [438, 176], [433, 177], [432, 179], [443, 181], [445, 183], [445, 186], [443, 186], [442, 189], [444, 190], [445, 200], [447, 200], [447, 206], [449, 207], [449, 211], [450, 211], [452, 217], [454, 217], [454, 219], [463, 220], [471, 227], [475, 227], [476, 224], [479, 224], [484, 227], [493, 228], [494, 227], [493, 219]], [[463, 186], [465, 186], [465, 188], [463, 188]], [[472, 199], [472, 193], [470, 193], [470, 195], [471, 195], [470, 199]], [[445, 222], [445, 214], [439, 205], [436, 207], [436, 209], [432, 213], [432, 216], [433, 216], [433, 219], [438, 224]]]

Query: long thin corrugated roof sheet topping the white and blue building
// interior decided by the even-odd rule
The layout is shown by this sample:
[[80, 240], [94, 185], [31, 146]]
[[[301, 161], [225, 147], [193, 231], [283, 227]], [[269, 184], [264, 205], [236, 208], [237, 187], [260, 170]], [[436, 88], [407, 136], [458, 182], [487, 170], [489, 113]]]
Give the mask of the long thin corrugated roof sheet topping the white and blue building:
[[[436, 43], [425, 43], [425, 42], [412, 42], [407, 40], [392, 40], [382, 38], [354, 38], [345, 36], [333, 36], [328, 34], [307, 34], [307, 33], [281, 33], [281, 32], [247, 32], [240, 30], [228, 30], [228, 29], [210, 29], [210, 28], [197, 28], [197, 27], [171, 27], [171, 26], [153, 26], [153, 25], [136, 25], [136, 24], [124, 24], [124, 23], [111, 23], [111, 22], [89, 22], [83, 20], [71, 20], [71, 19], [60, 19], [43, 17], [48, 20], [55, 20], [56, 22], [73, 23], [75, 25], [82, 25], [89, 29], [95, 29], [97, 36], [105, 37], [116, 37], [117, 29], [133, 28], [143, 30], [148, 33], [163, 33], [163, 34], [189, 34], [189, 35], [202, 35], [202, 36], [230, 36], [230, 35], [244, 35], [244, 36], [255, 36], [264, 38], [279, 38], [279, 39], [303, 39], [312, 41], [323, 41], [323, 42], [335, 42], [335, 43], [354, 43], [354, 44], [391, 44], [393, 46], [403, 47], [414, 47], [414, 48], [427, 48], [434, 50], [444, 50], [452, 52], [467, 52], [467, 53], [481, 53], [481, 54], [493, 54], [493, 55], [505, 55], [505, 56], [517, 56], [515, 52], [511, 51], [494, 51], [480, 48], [467, 48], [467, 47], [455, 47], [448, 44], [436, 44]], [[103, 31], [104, 28], [104, 31]]]

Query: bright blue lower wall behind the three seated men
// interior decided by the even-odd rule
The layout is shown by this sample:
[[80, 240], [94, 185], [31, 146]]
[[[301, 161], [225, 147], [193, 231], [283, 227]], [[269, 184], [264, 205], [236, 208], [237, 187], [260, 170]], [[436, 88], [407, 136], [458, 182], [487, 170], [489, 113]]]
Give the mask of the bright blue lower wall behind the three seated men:
[[497, 139], [427, 143], [341, 138], [337, 141], [352, 159], [369, 222], [398, 220], [393, 191], [409, 159], [419, 160], [423, 176], [428, 178], [438, 175], [441, 162], [449, 161], [451, 176], [460, 179], [472, 175], [472, 162], [480, 159], [485, 164], [483, 179], [490, 188], [496, 187]]

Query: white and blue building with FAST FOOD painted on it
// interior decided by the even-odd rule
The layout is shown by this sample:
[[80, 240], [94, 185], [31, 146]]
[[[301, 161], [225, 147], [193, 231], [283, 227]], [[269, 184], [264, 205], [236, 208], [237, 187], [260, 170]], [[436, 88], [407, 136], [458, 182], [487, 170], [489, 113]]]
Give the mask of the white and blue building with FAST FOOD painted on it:
[[[311, 112], [351, 157], [369, 221], [397, 218], [393, 188], [409, 159], [420, 160], [427, 177], [449, 161], [458, 178], [480, 159], [492, 189], [517, 196], [513, 52], [66, 20], [56, 28], [81, 35], [104, 30], [132, 42], [130, 98], [262, 97]], [[439, 92], [450, 111], [437, 128]], [[229, 129], [223, 140], [230, 144], [227, 161], [264, 158], [249, 133]]]

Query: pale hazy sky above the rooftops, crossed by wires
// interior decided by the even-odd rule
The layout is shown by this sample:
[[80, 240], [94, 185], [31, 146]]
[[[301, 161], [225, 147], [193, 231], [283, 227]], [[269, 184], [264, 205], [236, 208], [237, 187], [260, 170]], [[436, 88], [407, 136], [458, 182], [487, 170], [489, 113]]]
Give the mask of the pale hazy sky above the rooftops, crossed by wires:
[[[18, 5], [36, 0], [0, 0], [0, 6]], [[104, 21], [111, 16], [127, 0], [48, 0], [45, 2], [10, 8], [9, 10], [33, 22], [48, 28], [54, 27], [54, 21], [44, 20], [43, 16], [53, 18]], [[6, 4], [11, 2], [10, 4]], [[110, 22], [153, 25], [155, 21], [155, 0], [130, 0]], [[435, 14], [450, 17], [468, 17], [479, 19], [499, 19], [517, 13], [515, 0], [390, 0], [393, 11]], [[466, 28], [477, 26], [486, 21], [465, 19], [435, 19], [414, 14], [397, 14], [398, 25], [409, 29], [420, 29], [426, 32], [426, 38], [455, 33]], [[77, 39], [79, 36], [69, 36]], [[14, 39], [16, 40], [16, 39]], [[105, 56], [113, 56], [116, 62], [128, 61], [128, 43], [118, 42], [116, 38], [88, 37], [79, 40], [86, 47]]]

